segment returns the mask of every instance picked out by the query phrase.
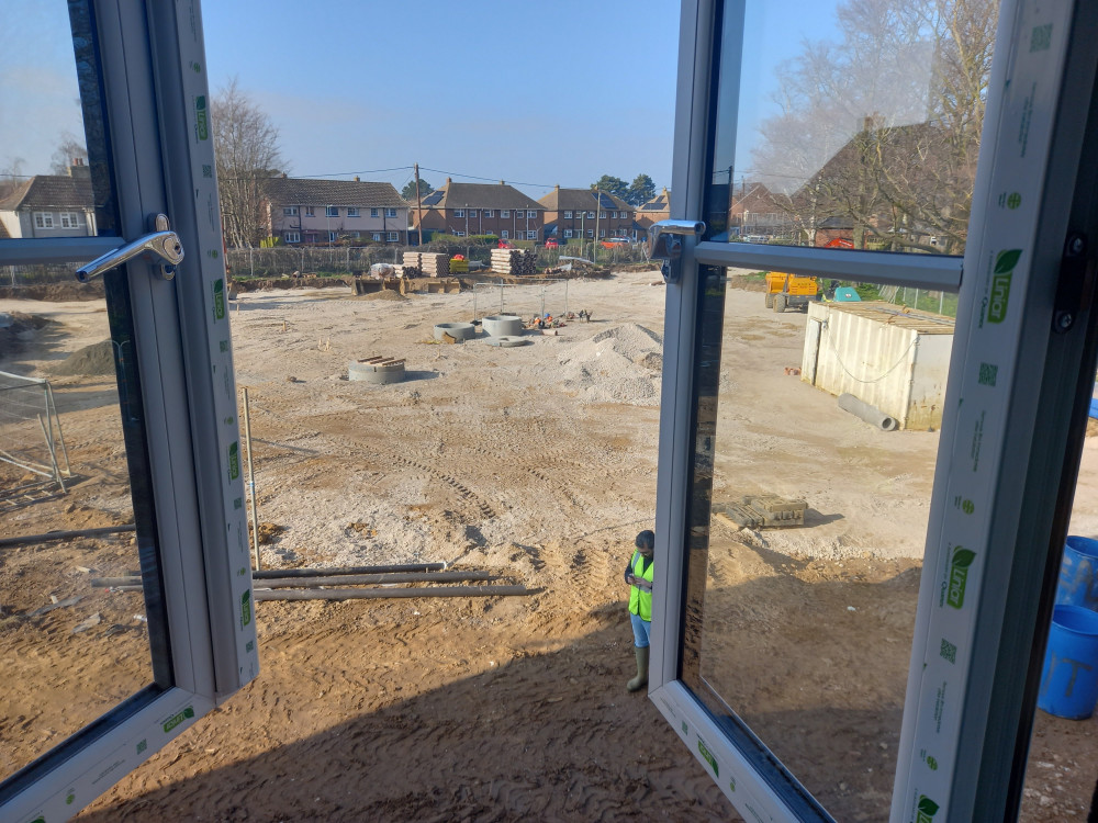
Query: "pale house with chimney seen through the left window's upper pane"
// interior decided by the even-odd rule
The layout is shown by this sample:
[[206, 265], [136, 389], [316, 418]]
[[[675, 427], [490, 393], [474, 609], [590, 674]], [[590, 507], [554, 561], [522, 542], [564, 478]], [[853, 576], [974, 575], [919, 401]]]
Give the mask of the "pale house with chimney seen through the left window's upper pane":
[[0, 200], [5, 236], [93, 237], [96, 201], [88, 166], [77, 161], [68, 174], [35, 174]]

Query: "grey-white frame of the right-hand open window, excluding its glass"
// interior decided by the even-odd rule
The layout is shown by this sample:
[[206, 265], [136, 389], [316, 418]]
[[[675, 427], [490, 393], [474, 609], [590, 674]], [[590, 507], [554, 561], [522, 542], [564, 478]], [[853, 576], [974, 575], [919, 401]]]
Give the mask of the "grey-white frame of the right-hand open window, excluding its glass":
[[[703, 214], [707, 119], [715, 111], [709, 93], [716, 86], [717, 7], [714, 0], [684, 0], [682, 5], [670, 207], [675, 218], [696, 219]], [[725, 8], [739, 14], [742, 23], [741, 2]], [[684, 243], [682, 280], [669, 285], [666, 295], [656, 514], [656, 565], [663, 573], [657, 575], [652, 600], [649, 697], [749, 820], [830, 818], [825, 810], [793, 802], [777, 768], [772, 763], [760, 766], [763, 760], [748, 756], [748, 744], [732, 740], [727, 720], [718, 722], [680, 679], [695, 307], [702, 289], [697, 267], [960, 290], [890, 820], [916, 820], [922, 798], [939, 807], [938, 821], [1013, 816], [1096, 363], [1094, 309], [1086, 309], [1083, 323], [1080, 314], [1058, 303], [1064, 298], [1060, 290], [1073, 277], [1069, 263], [1062, 263], [1068, 259], [1065, 247], [1072, 248], [1065, 237], [1069, 240], [1073, 232], [1098, 223], [1098, 206], [1090, 203], [1098, 177], [1098, 132], [1086, 131], [1098, 66], [1087, 37], [1096, 24], [1098, 9], [1093, 4], [1002, 3], [964, 288], [957, 258]], [[1052, 32], [1049, 48], [1030, 47], [1039, 27]], [[720, 50], [738, 59], [740, 48], [738, 43], [725, 43]], [[1066, 55], [1073, 55], [1071, 63], [1065, 63]], [[729, 88], [739, 87], [736, 72], [729, 82]], [[1031, 89], [1038, 87], [1037, 99], [1043, 102], [1034, 106]], [[737, 103], [721, 100], [726, 111], [737, 111]], [[1017, 150], [1019, 123], [1028, 133], [1024, 159]], [[1021, 192], [1026, 208], [1009, 214], [997, 208], [996, 195], [1006, 190]], [[999, 250], [1008, 247], [1023, 252], [1012, 271], [1012, 311], [1001, 325], [985, 324], [985, 289], [990, 288]], [[1093, 248], [1082, 245], [1078, 263], [1091, 271]], [[1093, 296], [1093, 283], [1087, 289], [1080, 305]], [[1054, 322], [1058, 331], [1052, 330]], [[981, 357], [998, 362], [997, 393], [989, 395], [979, 385], [979, 369], [974, 365]], [[959, 397], [965, 403], [950, 402]], [[979, 515], [966, 520], [967, 512], [953, 505], [953, 483], [964, 474], [965, 460], [970, 475], [974, 473], [968, 454], [974, 419], [982, 436], [981, 475], [977, 481], [965, 477], [973, 488], [965, 496], [979, 495], [975, 509]], [[944, 664], [934, 641], [942, 636], [942, 621], [957, 616], [942, 617], [938, 591], [950, 574], [950, 551], [961, 541], [976, 550], [977, 560], [968, 567], [964, 609], [955, 621], [962, 642], [943, 691], [940, 666]], [[987, 562], [993, 546], [995, 563]], [[943, 694], [948, 695], [944, 709]], [[935, 717], [940, 718], [937, 731]], [[926, 757], [922, 747], [928, 740], [934, 741], [932, 748], [941, 756]]]

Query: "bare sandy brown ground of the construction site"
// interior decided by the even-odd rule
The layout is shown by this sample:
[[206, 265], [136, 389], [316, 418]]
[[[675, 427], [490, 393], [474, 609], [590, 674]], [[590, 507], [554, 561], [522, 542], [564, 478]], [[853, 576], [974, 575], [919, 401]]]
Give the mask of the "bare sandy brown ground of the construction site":
[[[789, 529], [714, 519], [704, 673], [838, 820], [883, 821], [939, 435], [873, 429], [788, 373], [805, 315], [749, 289], [728, 284], [714, 499], [807, 510]], [[553, 314], [560, 296], [546, 295]], [[501, 349], [433, 336], [472, 319], [470, 290], [240, 293], [264, 566], [445, 561], [538, 591], [258, 602], [258, 679], [78, 819], [736, 820], [625, 690], [623, 571], [653, 528], [664, 296], [654, 271], [575, 280], [568, 309], [592, 322]], [[530, 316], [542, 297], [503, 298]], [[113, 376], [69, 359], [107, 337], [102, 301], [0, 312], [48, 320], [21, 327], [0, 370], [69, 372], [52, 379], [76, 475], [61, 497], [0, 510], [0, 534], [130, 522]], [[405, 359], [406, 380], [346, 380], [372, 356]], [[1073, 533], [1098, 533], [1096, 443]], [[0, 549], [4, 774], [149, 681], [141, 596], [89, 585], [134, 568], [126, 533]], [[1038, 712], [1024, 820], [1085, 815], [1096, 722]]]

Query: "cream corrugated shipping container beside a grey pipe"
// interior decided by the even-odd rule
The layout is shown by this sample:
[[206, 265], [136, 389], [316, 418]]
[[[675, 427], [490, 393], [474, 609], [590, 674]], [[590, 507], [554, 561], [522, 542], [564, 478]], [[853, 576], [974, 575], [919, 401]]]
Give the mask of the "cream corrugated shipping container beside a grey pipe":
[[937, 429], [953, 325], [890, 303], [811, 303], [800, 379], [836, 396], [852, 394], [901, 429]]

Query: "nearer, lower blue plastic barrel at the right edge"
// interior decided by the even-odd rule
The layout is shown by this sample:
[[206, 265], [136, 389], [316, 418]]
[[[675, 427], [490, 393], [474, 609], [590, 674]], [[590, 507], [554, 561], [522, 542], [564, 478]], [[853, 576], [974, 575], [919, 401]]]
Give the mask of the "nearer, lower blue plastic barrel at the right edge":
[[1068, 720], [1085, 720], [1098, 702], [1098, 611], [1080, 606], [1052, 610], [1049, 647], [1038, 708]]

